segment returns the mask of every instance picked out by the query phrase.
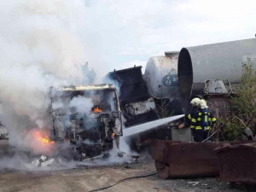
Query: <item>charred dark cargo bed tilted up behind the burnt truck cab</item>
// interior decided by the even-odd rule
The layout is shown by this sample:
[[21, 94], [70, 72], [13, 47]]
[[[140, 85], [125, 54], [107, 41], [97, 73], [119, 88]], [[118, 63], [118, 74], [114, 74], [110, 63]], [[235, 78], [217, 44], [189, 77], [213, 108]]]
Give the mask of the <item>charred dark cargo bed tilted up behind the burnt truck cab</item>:
[[148, 93], [141, 66], [114, 70], [108, 73], [108, 78], [119, 84], [119, 100], [126, 126], [158, 119], [154, 111], [154, 99]]

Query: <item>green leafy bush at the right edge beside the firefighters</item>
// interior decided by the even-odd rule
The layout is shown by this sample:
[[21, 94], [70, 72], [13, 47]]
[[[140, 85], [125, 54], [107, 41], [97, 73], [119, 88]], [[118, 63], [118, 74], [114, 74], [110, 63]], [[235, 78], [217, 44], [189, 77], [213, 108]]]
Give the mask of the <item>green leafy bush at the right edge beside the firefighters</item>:
[[224, 122], [226, 140], [241, 140], [246, 127], [256, 133], [256, 71], [253, 65], [242, 65], [240, 84], [236, 86], [236, 94], [231, 97], [231, 115]]

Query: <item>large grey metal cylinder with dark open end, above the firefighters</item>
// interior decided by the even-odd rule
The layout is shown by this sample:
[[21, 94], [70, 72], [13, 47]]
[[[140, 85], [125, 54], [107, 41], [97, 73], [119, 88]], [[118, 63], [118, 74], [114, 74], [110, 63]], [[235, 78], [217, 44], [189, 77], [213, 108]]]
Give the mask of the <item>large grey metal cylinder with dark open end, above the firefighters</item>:
[[183, 48], [178, 56], [177, 76], [183, 96], [202, 89], [207, 79], [239, 82], [242, 64], [256, 69], [256, 38]]

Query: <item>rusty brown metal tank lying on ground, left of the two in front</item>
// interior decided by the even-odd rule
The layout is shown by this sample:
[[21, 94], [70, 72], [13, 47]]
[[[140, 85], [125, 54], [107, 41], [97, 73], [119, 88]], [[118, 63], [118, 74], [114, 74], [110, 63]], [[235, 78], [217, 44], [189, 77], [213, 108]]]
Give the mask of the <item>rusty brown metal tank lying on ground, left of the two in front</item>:
[[212, 149], [219, 143], [182, 143], [154, 140], [153, 159], [160, 177], [218, 176], [218, 157]]

